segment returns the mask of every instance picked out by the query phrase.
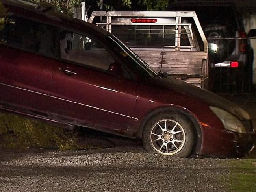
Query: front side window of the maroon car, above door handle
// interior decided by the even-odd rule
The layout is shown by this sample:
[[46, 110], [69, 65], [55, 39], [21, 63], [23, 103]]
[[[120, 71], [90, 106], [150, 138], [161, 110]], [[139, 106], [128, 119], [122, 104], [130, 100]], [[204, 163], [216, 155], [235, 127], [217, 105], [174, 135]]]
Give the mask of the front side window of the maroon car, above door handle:
[[109, 70], [111, 63], [115, 62], [97, 41], [70, 31], [62, 31], [60, 34], [60, 55], [62, 59], [102, 70]]

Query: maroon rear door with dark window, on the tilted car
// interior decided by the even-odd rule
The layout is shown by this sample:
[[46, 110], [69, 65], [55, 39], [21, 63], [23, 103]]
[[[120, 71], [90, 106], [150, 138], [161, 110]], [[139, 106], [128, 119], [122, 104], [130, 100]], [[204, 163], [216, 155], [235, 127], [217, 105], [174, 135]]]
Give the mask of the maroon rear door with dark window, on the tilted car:
[[[0, 29], [0, 107], [48, 109], [56, 28], [9, 13]], [[25, 110], [25, 111], [24, 111]]]

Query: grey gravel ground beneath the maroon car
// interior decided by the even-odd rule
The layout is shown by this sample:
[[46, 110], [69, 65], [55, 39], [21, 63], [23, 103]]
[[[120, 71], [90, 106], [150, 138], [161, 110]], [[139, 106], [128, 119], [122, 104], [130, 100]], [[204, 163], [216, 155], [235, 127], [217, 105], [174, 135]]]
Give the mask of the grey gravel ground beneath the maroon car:
[[0, 192], [221, 192], [220, 176], [228, 173], [226, 159], [165, 157], [139, 145], [0, 152]]

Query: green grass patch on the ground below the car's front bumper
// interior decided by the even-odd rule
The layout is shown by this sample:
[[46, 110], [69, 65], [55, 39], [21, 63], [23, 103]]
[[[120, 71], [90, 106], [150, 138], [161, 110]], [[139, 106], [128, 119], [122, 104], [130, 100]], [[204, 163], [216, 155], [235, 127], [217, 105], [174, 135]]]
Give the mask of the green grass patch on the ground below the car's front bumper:
[[230, 160], [229, 190], [256, 192], [256, 159]]

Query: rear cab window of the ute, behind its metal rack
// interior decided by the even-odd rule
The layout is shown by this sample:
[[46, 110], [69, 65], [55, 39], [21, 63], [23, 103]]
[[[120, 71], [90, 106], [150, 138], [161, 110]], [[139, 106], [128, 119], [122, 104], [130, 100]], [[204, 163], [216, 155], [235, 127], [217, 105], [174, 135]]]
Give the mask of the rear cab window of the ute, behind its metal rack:
[[[127, 46], [161, 48], [162, 46], [175, 46], [174, 25], [115, 25], [111, 32]], [[187, 26], [181, 26], [180, 46], [191, 46]]]

